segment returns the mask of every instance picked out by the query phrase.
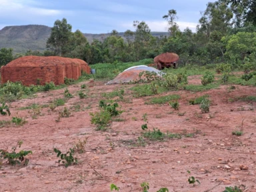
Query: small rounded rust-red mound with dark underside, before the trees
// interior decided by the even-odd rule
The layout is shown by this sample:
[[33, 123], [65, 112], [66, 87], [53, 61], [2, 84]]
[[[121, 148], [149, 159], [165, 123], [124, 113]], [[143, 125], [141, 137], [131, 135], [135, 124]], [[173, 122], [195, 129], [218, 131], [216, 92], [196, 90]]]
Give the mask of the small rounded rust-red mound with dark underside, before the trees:
[[162, 53], [161, 55], [157, 55], [154, 59], [154, 63], [157, 66], [157, 69], [161, 70], [165, 67], [173, 67], [177, 68], [177, 61], [179, 60], [179, 55], [176, 53]]

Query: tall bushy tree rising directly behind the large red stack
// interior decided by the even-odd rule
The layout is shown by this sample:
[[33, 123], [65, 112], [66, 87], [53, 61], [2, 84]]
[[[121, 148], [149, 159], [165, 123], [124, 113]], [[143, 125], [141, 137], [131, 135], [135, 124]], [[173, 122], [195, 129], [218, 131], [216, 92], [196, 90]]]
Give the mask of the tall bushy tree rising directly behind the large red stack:
[[51, 36], [47, 39], [47, 48], [54, 51], [55, 55], [65, 56], [70, 50], [71, 30], [72, 26], [67, 23], [67, 19], [55, 21]]

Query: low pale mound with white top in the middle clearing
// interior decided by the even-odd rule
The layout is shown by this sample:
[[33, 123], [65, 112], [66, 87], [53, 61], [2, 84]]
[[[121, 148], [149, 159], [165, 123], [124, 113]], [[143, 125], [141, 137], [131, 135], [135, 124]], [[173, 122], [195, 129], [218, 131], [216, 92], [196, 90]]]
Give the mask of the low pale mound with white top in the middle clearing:
[[[159, 71], [158, 69], [155, 69], [153, 67], [147, 67], [147, 65], [138, 65], [135, 67], [129, 67], [128, 69], [125, 69], [122, 73], [119, 73], [115, 79], [107, 82], [106, 85], [111, 85], [111, 84], [121, 84], [121, 83], [129, 83], [132, 81], [138, 81], [139, 80], [139, 73], [143, 71], [151, 71], [157, 73], [159, 77], [161, 77], [163, 72]], [[141, 77], [143, 78], [143, 77]]]

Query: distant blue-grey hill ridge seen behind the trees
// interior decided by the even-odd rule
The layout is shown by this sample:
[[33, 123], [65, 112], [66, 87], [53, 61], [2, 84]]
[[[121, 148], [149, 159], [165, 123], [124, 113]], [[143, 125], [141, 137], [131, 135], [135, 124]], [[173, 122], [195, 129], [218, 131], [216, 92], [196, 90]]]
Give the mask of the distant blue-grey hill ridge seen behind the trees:
[[[0, 49], [3, 47], [13, 48], [14, 53], [25, 53], [28, 49], [32, 51], [44, 51], [46, 41], [51, 34], [51, 27], [45, 25], [21, 25], [9, 26], [0, 30]], [[103, 41], [110, 33], [91, 34], [84, 33], [89, 42], [93, 39]], [[124, 33], [119, 33], [123, 37]], [[152, 32], [155, 37], [168, 35], [167, 32]]]

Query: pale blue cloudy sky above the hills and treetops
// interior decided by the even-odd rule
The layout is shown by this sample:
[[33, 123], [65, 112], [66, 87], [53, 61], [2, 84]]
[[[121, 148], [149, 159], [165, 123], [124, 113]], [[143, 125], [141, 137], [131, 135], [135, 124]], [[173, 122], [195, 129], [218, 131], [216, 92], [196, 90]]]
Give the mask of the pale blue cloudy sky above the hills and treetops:
[[[181, 30], [195, 27], [211, 0], [0, 0], [0, 29], [9, 25], [53, 26], [65, 17], [73, 31], [109, 33], [133, 30], [133, 21], [145, 21], [151, 31], [167, 31], [162, 19], [177, 10]], [[213, 2], [213, 1], [211, 1]]]

